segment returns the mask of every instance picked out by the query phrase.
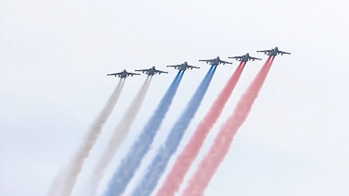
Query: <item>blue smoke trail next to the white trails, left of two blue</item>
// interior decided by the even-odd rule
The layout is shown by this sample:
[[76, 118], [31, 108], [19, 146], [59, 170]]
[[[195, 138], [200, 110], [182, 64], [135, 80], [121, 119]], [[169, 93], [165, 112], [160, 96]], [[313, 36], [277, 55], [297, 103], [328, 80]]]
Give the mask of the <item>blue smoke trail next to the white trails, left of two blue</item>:
[[141, 135], [137, 138], [135, 143], [133, 143], [126, 157], [121, 161], [104, 195], [120, 196], [125, 191], [127, 184], [131, 181], [143, 157], [149, 151], [153, 143], [154, 137], [172, 104], [183, 74], [184, 72], [179, 71], [175, 76], [174, 81], [162, 97], [152, 117], [143, 127]]

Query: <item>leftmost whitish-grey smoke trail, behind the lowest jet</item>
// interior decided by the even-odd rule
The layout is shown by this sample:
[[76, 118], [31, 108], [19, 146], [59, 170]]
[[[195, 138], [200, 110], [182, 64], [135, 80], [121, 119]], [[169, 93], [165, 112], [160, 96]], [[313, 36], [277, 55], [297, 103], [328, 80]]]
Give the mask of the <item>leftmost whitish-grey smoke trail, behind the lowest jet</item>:
[[48, 196], [70, 196], [85, 159], [88, 157], [105, 122], [108, 120], [115, 104], [117, 103], [124, 84], [125, 80], [120, 79], [106, 105], [89, 128], [79, 150], [73, 156], [68, 166], [63, 169], [52, 182], [48, 191]]

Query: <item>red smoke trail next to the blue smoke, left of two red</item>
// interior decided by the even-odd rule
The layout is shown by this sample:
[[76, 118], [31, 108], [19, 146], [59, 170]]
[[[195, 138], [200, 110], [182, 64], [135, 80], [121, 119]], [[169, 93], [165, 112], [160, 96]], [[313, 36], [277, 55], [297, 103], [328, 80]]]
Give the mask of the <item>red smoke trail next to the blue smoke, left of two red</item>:
[[237, 85], [245, 64], [246, 62], [241, 62], [238, 65], [238, 68], [230, 77], [224, 89], [218, 95], [209, 112], [197, 126], [194, 135], [191, 137], [190, 142], [187, 144], [182, 153], [178, 156], [171, 172], [167, 175], [164, 184], [159, 189], [157, 196], [174, 196], [175, 192], [178, 191], [186, 173], [190, 168], [191, 163], [198, 155], [208, 132], [212, 129], [213, 125], [220, 117], [225, 103], [228, 101], [231, 93]]

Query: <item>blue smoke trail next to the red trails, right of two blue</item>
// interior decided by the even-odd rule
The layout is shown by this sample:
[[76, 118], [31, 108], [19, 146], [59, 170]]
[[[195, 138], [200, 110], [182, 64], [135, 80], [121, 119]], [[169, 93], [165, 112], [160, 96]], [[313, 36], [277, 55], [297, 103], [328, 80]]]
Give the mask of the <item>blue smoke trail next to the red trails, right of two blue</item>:
[[166, 166], [170, 161], [170, 158], [177, 150], [185, 131], [188, 129], [190, 121], [195, 116], [195, 113], [198, 110], [201, 101], [203, 100], [206, 94], [206, 91], [216, 71], [216, 68], [217, 66], [211, 66], [210, 70], [207, 72], [199, 87], [191, 97], [190, 102], [186, 106], [186, 109], [181, 114], [179, 119], [174, 123], [174, 126], [170, 131], [169, 136], [167, 136], [165, 143], [160, 147], [151, 165], [148, 166], [145, 176], [131, 195], [151, 195], [156, 185], [158, 184], [158, 181], [162, 173], [165, 171]]

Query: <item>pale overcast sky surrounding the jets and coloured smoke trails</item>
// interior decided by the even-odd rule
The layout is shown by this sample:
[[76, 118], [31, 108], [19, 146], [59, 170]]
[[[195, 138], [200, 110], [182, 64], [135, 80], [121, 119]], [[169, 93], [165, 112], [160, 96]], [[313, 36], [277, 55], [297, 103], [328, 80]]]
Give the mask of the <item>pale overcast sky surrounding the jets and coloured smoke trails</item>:
[[[153, 65], [169, 71], [154, 76], [102, 193], [176, 75], [166, 65], [200, 66], [184, 74], [130, 193], [209, 69], [198, 60], [246, 52], [263, 58], [247, 63], [187, 182], [267, 59], [255, 51], [274, 46], [292, 54], [275, 58], [206, 195], [349, 195], [348, 8], [346, 0], [0, 0], [0, 195], [46, 195], [117, 84], [107, 74]], [[237, 65], [217, 68], [179, 151]], [[74, 196], [145, 78], [127, 78]]]

